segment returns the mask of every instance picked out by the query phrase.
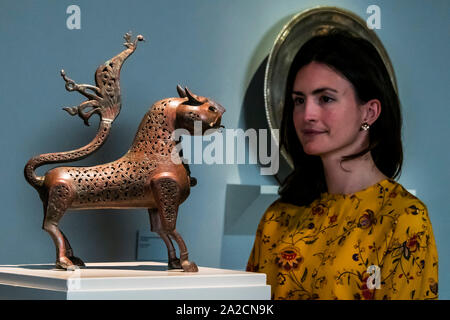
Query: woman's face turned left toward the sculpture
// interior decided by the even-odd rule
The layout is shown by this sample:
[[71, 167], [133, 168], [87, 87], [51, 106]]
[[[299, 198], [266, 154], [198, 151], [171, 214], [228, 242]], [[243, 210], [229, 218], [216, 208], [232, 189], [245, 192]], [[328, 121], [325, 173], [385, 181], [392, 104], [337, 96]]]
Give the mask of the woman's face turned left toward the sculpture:
[[295, 78], [292, 99], [297, 136], [306, 154], [344, 156], [368, 143], [366, 121], [352, 84], [329, 66], [311, 62]]

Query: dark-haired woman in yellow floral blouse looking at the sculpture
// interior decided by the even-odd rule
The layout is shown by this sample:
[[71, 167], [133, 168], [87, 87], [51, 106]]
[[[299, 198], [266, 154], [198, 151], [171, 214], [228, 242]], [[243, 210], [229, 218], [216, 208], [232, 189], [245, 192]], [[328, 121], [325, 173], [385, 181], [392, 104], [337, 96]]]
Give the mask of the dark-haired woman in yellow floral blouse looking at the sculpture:
[[401, 171], [400, 103], [368, 41], [334, 30], [291, 66], [280, 147], [294, 171], [258, 226], [247, 270], [273, 299], [437, 299], [426, 206]]

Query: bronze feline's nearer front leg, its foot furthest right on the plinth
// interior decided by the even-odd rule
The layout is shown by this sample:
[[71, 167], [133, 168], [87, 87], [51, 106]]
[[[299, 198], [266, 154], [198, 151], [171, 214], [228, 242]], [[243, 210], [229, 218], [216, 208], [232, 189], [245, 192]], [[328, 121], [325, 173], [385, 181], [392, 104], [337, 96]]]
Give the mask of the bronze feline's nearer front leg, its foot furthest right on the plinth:
[[186, 244], [175, 228], [181, 199], [180, 186], [171, 177], [160, 177], [152, 180], [151, 187], [158, 205], [161, 229], [177, 242], [180, 249], [181, 267], [184, 271], [197, 272], [197, 265], [188, 260]]

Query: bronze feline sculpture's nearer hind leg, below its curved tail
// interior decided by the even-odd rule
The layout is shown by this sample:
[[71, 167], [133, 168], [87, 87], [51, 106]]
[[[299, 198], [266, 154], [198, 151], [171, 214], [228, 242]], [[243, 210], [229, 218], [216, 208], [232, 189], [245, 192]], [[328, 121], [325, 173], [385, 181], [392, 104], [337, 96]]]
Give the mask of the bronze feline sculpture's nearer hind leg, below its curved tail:
[[47, 205], [44, 212], [42, 228], [50, 234], [56, 247], [56, 268], [74, 268], [74, 263], [67, 256], [71, 252], [70, 244], [58, 228], [65, 211], [71, 202], [71, 191], [64, 184], [52, 186], [49, 190]]

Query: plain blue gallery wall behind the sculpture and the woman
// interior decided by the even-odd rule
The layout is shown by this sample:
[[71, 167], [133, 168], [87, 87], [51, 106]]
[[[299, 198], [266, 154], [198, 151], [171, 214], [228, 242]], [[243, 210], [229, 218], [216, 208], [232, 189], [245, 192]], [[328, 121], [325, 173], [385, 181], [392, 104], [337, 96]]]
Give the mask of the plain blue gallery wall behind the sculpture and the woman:
[[[66, 27], [71, 4], [81, 9], [79, 30]], [[146, 37], [122, 69], [123, 106], [111, 136], [76, 165], [109, 162], [127, 151], [148, 107], [175, 96], [178, 83], [225, 106], [227, 128], [267, 127], [261, 75], [282, 26], [316, 5], [339, 6], [366, 19], [372, 4], [381, 9], [376, 33], [391, 57], [403, 107], [399, 181], [428, 206], [439, 250], [440, 296], [450, 298], [447, 0], [1, 1], [0, 264], [53, 262], [53, 243], [41, 230], [41, 203], [23, 167], [33, 155], [85, 145], [97, 129], [96, 119], [86, 128], [61, 111], [84, 99], [65, 91], [60, 69], [92, 84], [96, 67], [122, 50], [126, 31]], [[191, 256], [201, 266], [243, 267], [252, 236], [225, 235], [226, 201], [233, 194], [227, 197], [227, 185], [273, 185], [275, 179], [261, 176], [257, 165], [191, 165], [191, 171], [199, 184], [178, 220]], [[61, 226], [85, 261], [127, 261], [136, 258], [136, 232], [149, 221], [145, 210], [105, 210], [70, 212]]]

